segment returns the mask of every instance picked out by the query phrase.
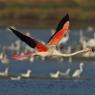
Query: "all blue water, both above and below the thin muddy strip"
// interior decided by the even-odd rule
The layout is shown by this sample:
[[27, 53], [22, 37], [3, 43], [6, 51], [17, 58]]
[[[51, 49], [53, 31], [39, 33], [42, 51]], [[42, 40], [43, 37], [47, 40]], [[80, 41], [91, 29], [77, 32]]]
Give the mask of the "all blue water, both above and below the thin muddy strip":
[[[29, 31], [32, 36], [40, 40], [48, 41], [50, 37], [50, 30], [41, 29], [21, 29], [22, 31]], [[40, 35], [39, 35], [40, 33]], [[86, 34], [86, 33], [85, 33]], [[70, 32], [70, 41], [68, 45], [73, 45], [79, 40], [79, 30]], [[93, 35], [89, 35], [89, 37]], [[4, 29], [0, 29], [0, 44], [10, 45], [18, 38]], [[66, 69], [71, 68], [70, 75], [79, 68], [79, 63], [84, 62], [84, 69], [81, 77], [95, 77], [95, 62], [73, 60], [69, 63], [68, 60], [59, 62], [58, 60], [49, 59], [42, 61], [35, 60], [34, 63], [28, 61], [11, 60], [9, 64], [0, 64], [0, 71], [4, 71], [9, 67], [11, 75], [18, 75], [21, 72], [26, 72], [31, 69], [33, 75], [49, 76], [50, 72], [60, 70], [65, 72]], [[0, 80], [0, 95], [95, 95], [95, 80]]]

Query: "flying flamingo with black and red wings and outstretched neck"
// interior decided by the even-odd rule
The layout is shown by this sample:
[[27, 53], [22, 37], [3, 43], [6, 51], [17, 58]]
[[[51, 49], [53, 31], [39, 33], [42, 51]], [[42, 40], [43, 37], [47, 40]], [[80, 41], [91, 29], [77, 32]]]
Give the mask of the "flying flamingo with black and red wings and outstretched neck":
[[29, 45], [31, 48], [35, 49], [35, 52], [33, 54], [25, 54], [25, 55], [16, 55], [13, 56], [13, 58], [23, 58], [28, 56], [41, 56], [42, 58], [45, 57], [71, 57], [79, 53], [93, 51], [93, 48], [84, 48], [80, 51], [76, 51], [74, 53], [67, 53], [63, 54], [61, 53], [56, 47], [60, 40], [65, 36], [66, 33], [68, 33], [69, 30], [69, 15], [66, 14], [65, 17], [62, 18], [62, 20], [59, 22], [56, 32], [50, 37], [47, 44], [43, 44], [41, 41], [34, 39], [33, 37], [30, 37], [28, 35], [25, 35], [22, 32], [19, 32], [14, 27], [10, 26], [9, 30], [11, 30], [18, 38], [20, 38], [23, 42], [25, 42], [27, 45]]

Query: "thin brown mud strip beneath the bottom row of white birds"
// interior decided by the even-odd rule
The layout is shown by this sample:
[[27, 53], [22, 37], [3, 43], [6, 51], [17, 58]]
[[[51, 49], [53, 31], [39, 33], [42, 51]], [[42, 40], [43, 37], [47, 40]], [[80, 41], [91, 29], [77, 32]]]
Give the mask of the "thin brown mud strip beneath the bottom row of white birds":
[[58, 77], [58, 78], [52, 78], [49, 76], [31, 76], [31, 77], [20, 77], [17, 78], [18, 76], [0, 76], [0, 80], [4, 79], [4, 80], [95, 80], [95, 78], [91, 78], [91, 77]]

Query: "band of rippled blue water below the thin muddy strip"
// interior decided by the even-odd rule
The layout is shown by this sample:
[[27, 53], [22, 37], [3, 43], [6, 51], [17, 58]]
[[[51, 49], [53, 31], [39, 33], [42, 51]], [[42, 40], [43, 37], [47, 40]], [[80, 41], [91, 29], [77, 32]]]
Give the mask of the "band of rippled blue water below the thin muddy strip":
[[0, 80], [1, 95], [95, 95], [95, 81]]

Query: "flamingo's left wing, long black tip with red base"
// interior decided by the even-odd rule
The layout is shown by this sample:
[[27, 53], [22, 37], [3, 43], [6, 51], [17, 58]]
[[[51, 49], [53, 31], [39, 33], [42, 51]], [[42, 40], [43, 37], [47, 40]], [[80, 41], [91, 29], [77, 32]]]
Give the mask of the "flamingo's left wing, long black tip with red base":
[[27, 45], [29, 45], [32, 48], [36, 48], [37, 51], [42, 52], [42, 51], [47, 51], [48, 48], [42, 44], [41, 42], [33, 39], [32, 37], [29, 37], [19, 31], [17, 31], [16, 29], [14, 29], [13, 27], [9, 27], [9, 30], [11, 30], [17, 37], [19, 37], [23, 42], [25, 42]]

